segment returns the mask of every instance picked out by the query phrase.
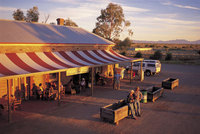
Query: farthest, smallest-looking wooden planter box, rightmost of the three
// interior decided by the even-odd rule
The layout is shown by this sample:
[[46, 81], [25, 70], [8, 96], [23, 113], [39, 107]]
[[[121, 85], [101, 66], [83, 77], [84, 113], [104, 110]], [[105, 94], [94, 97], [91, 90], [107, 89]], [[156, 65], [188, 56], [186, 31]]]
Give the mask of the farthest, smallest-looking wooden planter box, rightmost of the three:
[[173, 90], [179, 85], [179, 79], [167, 78], [162, 81], [162, 87]]

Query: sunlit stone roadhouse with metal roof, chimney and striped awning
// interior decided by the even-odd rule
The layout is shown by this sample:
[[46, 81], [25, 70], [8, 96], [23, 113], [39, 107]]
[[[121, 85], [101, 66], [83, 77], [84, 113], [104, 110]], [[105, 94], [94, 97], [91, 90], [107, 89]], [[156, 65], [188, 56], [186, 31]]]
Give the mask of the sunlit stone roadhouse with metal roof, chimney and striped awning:
[[57, 23], [0, 20], [0, 104], [30, 99], [33, 84], [53, 81], [59, 92], [61, 83], [85, 74], [93, 89], [94, 73], [113, 77], [115, 64], [143, 60], [116, 53], [113, 42], [82, 28], [63, 26], [63, 19]]

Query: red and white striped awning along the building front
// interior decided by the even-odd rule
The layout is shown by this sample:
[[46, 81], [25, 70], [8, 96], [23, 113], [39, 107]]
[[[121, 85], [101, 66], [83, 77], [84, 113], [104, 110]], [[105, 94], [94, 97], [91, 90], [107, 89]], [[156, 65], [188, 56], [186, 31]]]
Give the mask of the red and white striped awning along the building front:
[[0, 78], [132, 60], [113, 50], [1, 53]]

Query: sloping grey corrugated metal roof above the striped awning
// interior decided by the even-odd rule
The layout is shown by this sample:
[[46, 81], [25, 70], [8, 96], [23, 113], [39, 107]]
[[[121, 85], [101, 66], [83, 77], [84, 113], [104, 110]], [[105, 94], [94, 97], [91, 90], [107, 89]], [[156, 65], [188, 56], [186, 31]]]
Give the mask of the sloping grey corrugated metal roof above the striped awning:
[[0, 43], [114, 44], [79, 27], [0, 20]]

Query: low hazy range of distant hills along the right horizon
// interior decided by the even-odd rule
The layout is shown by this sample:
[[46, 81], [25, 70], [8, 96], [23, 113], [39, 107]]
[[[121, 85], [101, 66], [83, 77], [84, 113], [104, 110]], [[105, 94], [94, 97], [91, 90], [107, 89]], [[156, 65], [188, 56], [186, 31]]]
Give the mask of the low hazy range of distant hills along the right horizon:
[[133, 43], [156, 43], [156, 44], [200, 44], [200, 40], [197, 41], [188, 41], [188, 40], [169, 40], [169, 41], [142, 41], [142, 40], [133, 40]]

